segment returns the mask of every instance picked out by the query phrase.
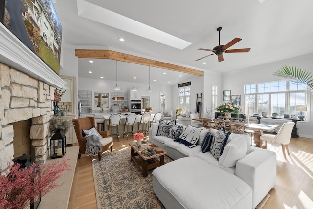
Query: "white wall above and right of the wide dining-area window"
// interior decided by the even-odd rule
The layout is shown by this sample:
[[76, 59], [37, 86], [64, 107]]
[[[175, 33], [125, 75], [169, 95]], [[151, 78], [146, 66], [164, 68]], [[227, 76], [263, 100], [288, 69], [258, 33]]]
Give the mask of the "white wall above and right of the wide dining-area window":
[[[242, 96], [242, 100], [244, 100], [244, 84], [278, 81], [279, 78], [272, 76], [272, 73], [280, 69], [283, 65], [301, 68], [313, 73], [313, 55], [301, 58], [292, 58], [289, 60], [279, 61], [275, 63], [268, 63], [233, 73], [223, 74], [223, 90], [231, 89], [232, 95], [240, 94]], [[312, 94], [308, 94], [308, 111], [310, 112], [310, 115], [307, 116], [306, 121], [297, 123], [298, 133], [302, 137], [313, 138], [312, 96]]]

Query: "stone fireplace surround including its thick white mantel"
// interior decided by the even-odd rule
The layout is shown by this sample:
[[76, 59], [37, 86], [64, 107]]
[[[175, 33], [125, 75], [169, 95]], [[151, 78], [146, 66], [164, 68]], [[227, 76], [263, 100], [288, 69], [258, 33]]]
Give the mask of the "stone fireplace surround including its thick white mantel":
[[0, 170], [13, 159], [13, 125], [31, 119], [32, 161], [49, 156], [54, 88], [65, 82], [0, 23]]

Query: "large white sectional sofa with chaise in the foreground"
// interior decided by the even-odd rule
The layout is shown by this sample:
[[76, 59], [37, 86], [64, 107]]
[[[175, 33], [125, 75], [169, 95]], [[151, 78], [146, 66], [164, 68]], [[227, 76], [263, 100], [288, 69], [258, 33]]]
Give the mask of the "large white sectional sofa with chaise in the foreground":
[[[250, 136], [230, 134], [229, 143], [246, 142], [244, 156], [229, 167], [210, 151], [202, 153], [201, 143], [208, 130], [200, 132], [198, 145], [188, 148], [166, 136], [156, 136], [159, 123], [153, 123], [149, 141], [168, 152], [174, 161], [153, 171], [154, 191], [166, 208], [171, 209], [254, 209], [276, 181], [276, 154], [250, 146]], [[211, 129], [211, 134], [217, 130]], [[227, 145], [226, 145], [227, 146]], [[224, 157], [232, 156], [224, 148]], [[233, 148], [229, 148], [233, 147]], [[227, 156], [226, 156], [227, 155]], [[225, 161], [224, 161], [225, 162]]]

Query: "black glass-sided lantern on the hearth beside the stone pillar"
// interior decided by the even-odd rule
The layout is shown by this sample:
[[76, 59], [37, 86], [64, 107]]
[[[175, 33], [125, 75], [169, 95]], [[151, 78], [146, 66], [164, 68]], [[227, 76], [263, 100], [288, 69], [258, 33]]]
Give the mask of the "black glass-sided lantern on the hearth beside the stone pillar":
[[62, 157], [67, 152], [65, 141], [66, 136], [60, 129], [57, 129], [50, 140], [50, 156], [52, 159]]

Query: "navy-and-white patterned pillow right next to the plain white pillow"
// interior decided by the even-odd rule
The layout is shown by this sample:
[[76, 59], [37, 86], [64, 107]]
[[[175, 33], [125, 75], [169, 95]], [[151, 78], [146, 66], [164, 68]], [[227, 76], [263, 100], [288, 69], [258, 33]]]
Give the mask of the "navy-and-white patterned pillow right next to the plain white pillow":
[[225, 128], [223, 127], [216, 132], [212, 139], [210, 151], [217, 160], [220, 159], [220, 156], [223, 153], [229, 135], [230, 132], [226, 132]]

